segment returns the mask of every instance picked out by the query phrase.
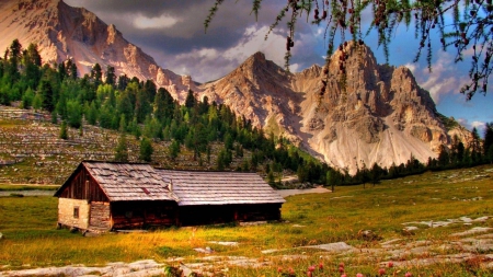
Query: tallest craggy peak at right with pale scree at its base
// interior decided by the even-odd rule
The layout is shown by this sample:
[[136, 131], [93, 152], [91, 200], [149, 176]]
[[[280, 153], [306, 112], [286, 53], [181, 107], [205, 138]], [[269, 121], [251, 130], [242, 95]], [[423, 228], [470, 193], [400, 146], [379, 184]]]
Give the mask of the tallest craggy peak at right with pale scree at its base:
[[[318, 77], [320, 83], [326, 81], [320, 104], [310, 99], [320, 93], [321, 84], [308, 91], [313, 96], [301, 103], [301, 130], [311, 135], [308, 147], [349, 172], [375, 162], [381, 166], [405, 163], [411, 155], [423, 162], [436, 157], [449, 137], [429, 93], [416, 84], [411, 71], [377, 65], [364, 45], [349, 43], [343, 51], [331, 57], [328, 77]], [[312, 128], [313, 120], [325, 127]]]

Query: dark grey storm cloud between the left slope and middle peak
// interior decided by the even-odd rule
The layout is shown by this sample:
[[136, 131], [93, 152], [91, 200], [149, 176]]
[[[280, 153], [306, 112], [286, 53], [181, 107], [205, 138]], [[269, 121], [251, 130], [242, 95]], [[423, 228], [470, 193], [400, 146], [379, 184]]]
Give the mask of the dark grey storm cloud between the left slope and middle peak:
[[[286, 24], [279, 24], [270, 42], [264, 43], [263, 36], [285, 1], [262, 1], [257, 21], [251, 12], [251, 1], [225, 1], [207, 34], [204, 21], [215, 0], [66, 2], [94, 12], [106, 24], [115, 24], [127, 41], [141, 47], [163, 68], [191, 74], [194, 80], [202, 82], [228, 73], [257, 50], [264, 51], [267, 59], [284, 64]], [[301, 37], [303, 33], [312, 32], [312, 28], [299, 25], [297, 32]], [[302, 50], [293, 61], [297, 64], [296, 68], [302, 69], [313, 62], [320, 64], [322, 59], [317, 53]]]

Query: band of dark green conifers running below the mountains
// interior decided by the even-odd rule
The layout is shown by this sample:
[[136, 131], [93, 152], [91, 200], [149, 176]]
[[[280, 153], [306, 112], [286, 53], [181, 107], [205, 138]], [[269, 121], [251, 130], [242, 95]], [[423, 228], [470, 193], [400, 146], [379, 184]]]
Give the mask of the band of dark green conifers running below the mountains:
[[[210, 103], [207, 96], [199, 101], [188, 91], [181, 105], [151, 80], [116, 77], [113, 67], [107, 66], [103, 71], [99, 64], [79, 78], [73, 60], [43, 65], [37, 46], [31, 44], [23, 49], [18, 39], [0, 58], [0, 104], [12, 102], [20, 102], [23, 108], [50, 112], [53, 123], [60, 124], [62, 139], [68, 138], [68, 127], [81, 128], [83, 123], [118, 130], [115, 161], [128, 161], [127, 136], [135, 136], [140, 141], [142, 161], [153, 162], [152, 142], [167, 141], [168, 159], [176, 159], [186, 148], [199, 165], [214, 162], [219, 171], [264, 172], [273, 186], [280, 186], [278, 177], [284, 171], [296, 173], [301, 183], [337, 186], [377, 184], [382, 178], [427, 170], [493, 162], [492, 123], [486, 125], [483, 143], [474, 130], [468, 148], [455, 138], [451, 149], [443, 147], [438, 158], [431, 158], [426, 164], [411, 157], [405, 164], [387, 169], [375, 163], [351, 175], [347, 170], [339, 171], [316, 160], [284, 138], [264, 134], [244, 116], [237, 116], [227, 105]], [[213, 153], [213, 143], [218, 142], [221, 147]], [[231, 165], [233, 158], [242, 160], [236, 168]]]

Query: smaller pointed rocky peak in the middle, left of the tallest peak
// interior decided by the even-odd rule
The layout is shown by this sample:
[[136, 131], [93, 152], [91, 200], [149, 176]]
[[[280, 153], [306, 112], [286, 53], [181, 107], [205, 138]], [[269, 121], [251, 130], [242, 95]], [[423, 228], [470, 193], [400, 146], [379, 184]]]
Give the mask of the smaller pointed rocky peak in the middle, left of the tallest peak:
[[[299, 140], [297, 106], [302, 94], [290, 88], [293, 76], [256, 53], [228, 76], [199, 88], [200, 99], [223, 103], [267, 132]], [[299, 122], [299, 119], [298, 119]]]

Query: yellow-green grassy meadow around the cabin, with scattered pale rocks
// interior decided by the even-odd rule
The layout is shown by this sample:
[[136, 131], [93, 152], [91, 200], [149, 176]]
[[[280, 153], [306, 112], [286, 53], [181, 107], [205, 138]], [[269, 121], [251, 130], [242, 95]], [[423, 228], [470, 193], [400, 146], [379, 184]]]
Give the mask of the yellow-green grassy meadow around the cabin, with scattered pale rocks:
[[[347, 276], [378, 276], [386, 255], [366, 255], [364, 250], [381, 249], [382, 242], [400, 239], [399, 243], [426, 241], [436, 245], [435, 254], [401, 256], [402, 262], [434, 255], [460, 254], [457, 247], [442, 247], [461, 238], [454, 233], [474, 227], [493, 228], [493, 165], [385, 181], [377, 186], [336, 187], [334, 193], [287, 197], [283, 206], [283, 222], [259, 226], [210, 226], [170, 228], [148, 233], [82, 236], [69, 230], [56, 230], [57, 198], [0, 197], [0, 275], [1, 270], [62, 266], [69, 264], [105, 265], [110, 262], [135, 262], [152, 258], [175, 266], [173, 257], [183, 263], [200, 262], [205, 256], [245, 256], [268, 263], [260, 267], [228, 266], [227, 276], [280, 276], [293, 268], [296, 276], [307, 276], [310, 265], [323, 264], [312, 276], [341, 276], [340, 263]], [[452, 223], [447, 227], [420, 228], [403, 231], [403, 223], [413, 221], [447, 221], [468, 217], [490, 216], [483, 222]], [[371, 230], [375, 240], [362, 236]], [[489, 231], [490, 235], [493, 233]], [[211, 244], [210, 241], [238, 242], [238, 246]], [[345, 242], [353, 253], [331, 254], [301, 246]], [[214, 254], [202, 254], [196, 247], [210, 246]], [[403, 246], [404, 247], [404, 246]], [[278, 250], [263, 253], [265, 250]], [[478, 250], [479, 255], [489, 254]], [[429, 255], [429, 256], [427, 256]], [[488, 255], [486, 255], [488, 256]], [[491, 255], [490, 255], [491, 256]], [[493, 257], [490, 257], [493, 259]], [[488, 258], [486, 258], [488, 259]], [[387, 268], [387, 276], [493, 276], [493, 264], [484, 257], [462, 263]], [[486, 265], [490, 263], [490, 267]], [[218, 265], [218, 267], [223, 265]], [[280, 269], [282, 268], [282, 269]], [[217, 268], [225, 272], [225, 268]]]

